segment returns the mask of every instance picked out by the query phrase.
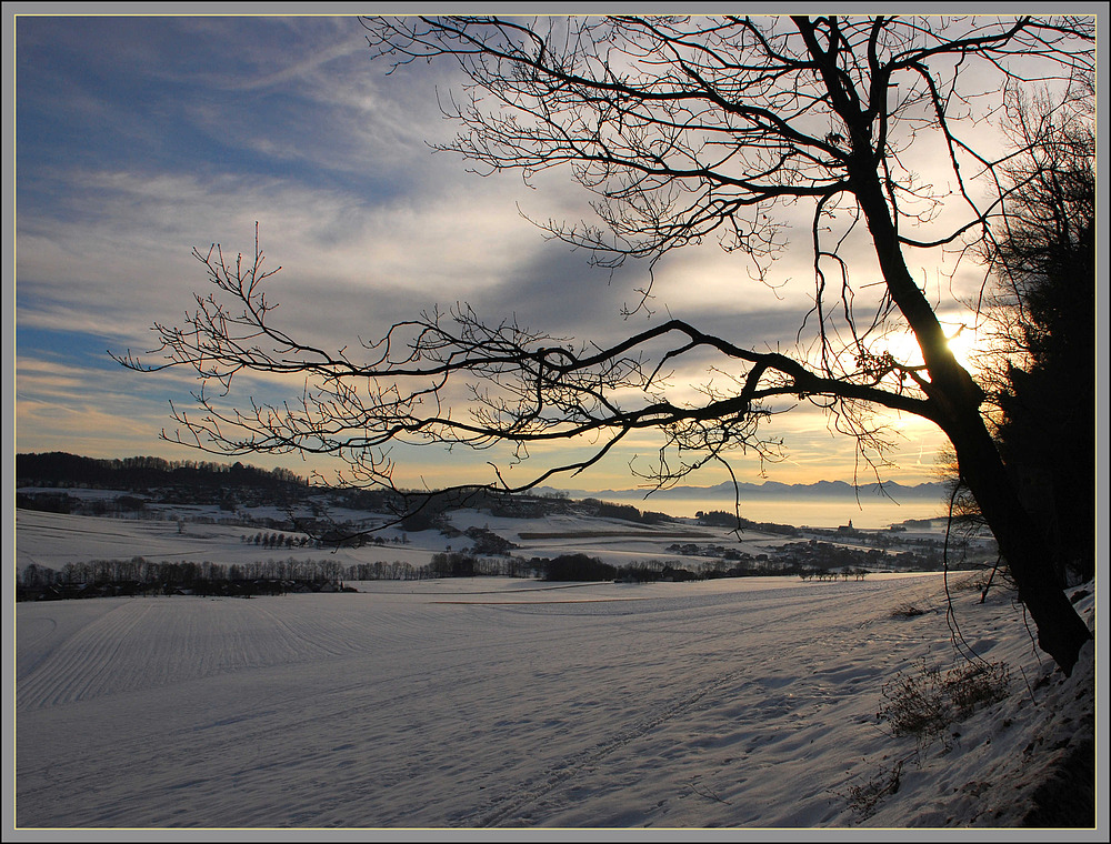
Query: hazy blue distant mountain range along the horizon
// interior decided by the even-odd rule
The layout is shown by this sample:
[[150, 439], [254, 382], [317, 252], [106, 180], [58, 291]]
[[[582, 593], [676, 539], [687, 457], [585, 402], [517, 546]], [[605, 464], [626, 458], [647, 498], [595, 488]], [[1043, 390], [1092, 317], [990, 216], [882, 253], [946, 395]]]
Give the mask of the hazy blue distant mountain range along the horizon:
[[[862, 483], [853, 486], [845, 481], [817, 481], [814, 483], [780, 483], [764, 481], [763, 483], [739, 483], [737, 490], [741, 499], [794, 499], [794, 498], [843, 498], [881, 499], [890, 496], [895, 501], [904, 499], [941, 499], [945, 486], [941, 483], [919, 483], [905, 485], [895, 481], [882, 484]], [[538, 492], [540, 492], [538, 490]], [[648, 490], [602, 490], [588, 492], [585, 490], [559, 490], [572, 499], [643, 499]], [[674, 486], [670, 490], [653, 492], [652, 496], [664, 499], [732, 499], [733, 484], [725, 482], [714, 486]]]

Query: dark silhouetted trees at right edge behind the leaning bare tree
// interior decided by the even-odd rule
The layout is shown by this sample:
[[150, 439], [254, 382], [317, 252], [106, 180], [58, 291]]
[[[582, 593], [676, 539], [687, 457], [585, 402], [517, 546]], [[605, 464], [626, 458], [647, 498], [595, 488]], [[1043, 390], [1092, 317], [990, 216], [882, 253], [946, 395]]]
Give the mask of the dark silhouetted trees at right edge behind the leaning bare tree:
[[1094, 91], [1014, 103], [1014, 190], [990, 258], [1009, 352], [997, 436], [1062, 583], [1095, 573]]

